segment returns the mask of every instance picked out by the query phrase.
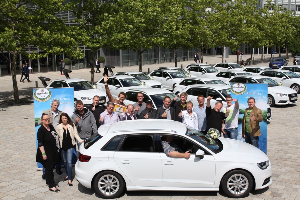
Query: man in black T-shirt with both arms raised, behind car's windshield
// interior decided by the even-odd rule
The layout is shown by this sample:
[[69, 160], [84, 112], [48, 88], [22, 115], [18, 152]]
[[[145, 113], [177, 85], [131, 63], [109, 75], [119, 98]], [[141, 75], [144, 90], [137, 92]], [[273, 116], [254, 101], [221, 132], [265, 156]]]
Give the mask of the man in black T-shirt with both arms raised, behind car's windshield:
[[206, 131], [208, 131], [210, 128], [215, 128], [219, 131], [219, 134], [221, 136], [223, 119], [226, 119], [228, 117], [230, 110], [226, 107], [226, 113], [220, 112], [223, 106], [223, 103], [221, 101], [217, 101], [216, 104], [214, 104], [214, 108], [211, 109], [210, 100], [212, 98], [214, 97], [206, 98]]

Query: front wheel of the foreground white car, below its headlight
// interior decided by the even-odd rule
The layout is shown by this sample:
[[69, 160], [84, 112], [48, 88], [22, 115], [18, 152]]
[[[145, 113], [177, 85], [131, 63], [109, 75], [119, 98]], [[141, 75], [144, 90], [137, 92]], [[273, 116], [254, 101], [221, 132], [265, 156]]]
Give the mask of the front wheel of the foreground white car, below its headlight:
[[229, 198], [244, 198], [252, 190], [253, 180], [248, 172], [233, 170], [222, 178], [221, 187]]

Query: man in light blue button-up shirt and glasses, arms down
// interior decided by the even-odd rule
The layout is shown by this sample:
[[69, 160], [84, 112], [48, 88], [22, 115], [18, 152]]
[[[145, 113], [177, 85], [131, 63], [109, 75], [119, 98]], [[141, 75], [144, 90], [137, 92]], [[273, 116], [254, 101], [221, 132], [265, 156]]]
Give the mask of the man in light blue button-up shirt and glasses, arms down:
[[197, 114], [199, 130], [202, 133], [206, 134], [206, 105], [204, 104], [204, 96], [202, 94], [198, 95], [197, 100], [199, 105], [193, 107], [193, 111]]

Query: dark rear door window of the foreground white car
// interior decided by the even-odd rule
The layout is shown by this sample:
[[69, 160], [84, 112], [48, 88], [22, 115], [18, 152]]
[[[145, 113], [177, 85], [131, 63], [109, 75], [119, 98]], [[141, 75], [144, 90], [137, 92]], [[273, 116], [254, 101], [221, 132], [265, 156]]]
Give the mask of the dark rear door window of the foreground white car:
[[120, 151], [154, 152], [153, 136], [126, 136]]

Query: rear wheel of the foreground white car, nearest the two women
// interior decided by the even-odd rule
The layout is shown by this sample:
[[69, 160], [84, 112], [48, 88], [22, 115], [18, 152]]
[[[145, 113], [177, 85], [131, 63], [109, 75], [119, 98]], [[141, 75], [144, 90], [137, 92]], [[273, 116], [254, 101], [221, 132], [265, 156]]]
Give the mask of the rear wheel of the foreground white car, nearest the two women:
[[101, 198], [115, 199], [120, 196], [124, 190], [124, 180], [116, 172], [101, 172], [94, 180], [94, 188]]

